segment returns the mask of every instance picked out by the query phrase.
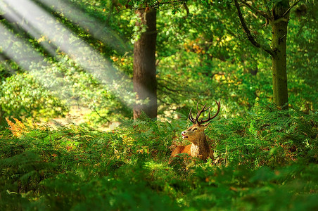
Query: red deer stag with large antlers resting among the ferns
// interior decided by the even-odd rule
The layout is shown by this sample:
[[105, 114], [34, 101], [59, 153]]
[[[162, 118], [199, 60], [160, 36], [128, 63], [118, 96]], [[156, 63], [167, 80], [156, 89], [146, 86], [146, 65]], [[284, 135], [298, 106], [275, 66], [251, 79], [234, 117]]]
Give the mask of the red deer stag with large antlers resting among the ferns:
[[[208, 136], [205, 136], [204, 134], [204, 129], [205, 127], [210, 124], [210, 120], [214, 119], [220, 112], [220, 101], [217, 102], [217, 113], [210, 117], [210, 107], [205, 108], [205, 105], [201, 110], [198, 110], [198, 104], [196, 104], [196, 110], [198, 110], [198, 113], [196, 115], [196, 119], [192, 117], [191, 110], [189, 113], [189, 120], [193, 123], [191, 127], [183, 131], [182, 134], [182, 139], [187, 139], [191, 142], [191, 144], [186, 145], [186, 146], [177, 146], [177, 148], [172, 151], [169, 163], [172, 162], [172, 158], [176, 157], [180, 153], [186, 153], [190, 155], [191, 157], [194, 158], [200, 158], [201, 160], [207, 160], [207, 158], [213, 159], [213, 151], [211, 150], [208, 141], [210, 141]], [[199, 120], [199, 117], [201, 113], [205, 112], [206, 110], [209, 109], [209, 117], [206, 120]], [[205, 124], [203, 124], [205, 123]]]

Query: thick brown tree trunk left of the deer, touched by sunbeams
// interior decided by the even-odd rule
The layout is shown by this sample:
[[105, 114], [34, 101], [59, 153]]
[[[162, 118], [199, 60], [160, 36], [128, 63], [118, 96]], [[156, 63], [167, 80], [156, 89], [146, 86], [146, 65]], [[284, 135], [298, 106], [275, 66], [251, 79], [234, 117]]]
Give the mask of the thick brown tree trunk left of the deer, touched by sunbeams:
[[[146, 32], [134, 43], [134, 91], [136, 103], [134, 106], [134, 120], [144, 111], [150, 118], [157, 117], [157, 82], [155, 79], [155, 42], [156, 11], [151, 9], [136, 11], [141, 20], [136, 25], [142, 29], [146, 26]], [[148, 103], [139, 103], [139, 100], [148, 100]]]

